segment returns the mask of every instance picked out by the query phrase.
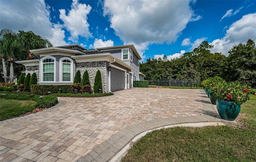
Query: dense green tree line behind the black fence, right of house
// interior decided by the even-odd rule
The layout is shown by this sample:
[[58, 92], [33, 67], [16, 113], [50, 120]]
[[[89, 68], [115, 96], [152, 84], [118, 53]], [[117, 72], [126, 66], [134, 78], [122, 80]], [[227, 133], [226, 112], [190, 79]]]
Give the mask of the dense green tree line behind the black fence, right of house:
[[178, 79], [202, 81], [220, 76], [226, 81], [242, 81], [256, 86], [256, 47], [253, 40], [238, 44], [229, 50], [229, 55], [212, 53], [213, 45], [207, 41], [180, 58], [168, 60], [147, 59], [140, 64], [145, 80]]

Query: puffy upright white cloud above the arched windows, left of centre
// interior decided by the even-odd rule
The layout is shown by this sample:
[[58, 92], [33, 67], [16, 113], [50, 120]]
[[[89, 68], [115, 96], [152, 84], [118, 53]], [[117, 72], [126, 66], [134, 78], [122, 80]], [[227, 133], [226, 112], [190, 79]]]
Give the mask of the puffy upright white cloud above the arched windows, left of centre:
[[84, 38], [92, 37], [89, 31], [89, 23], [87, 15], [92, 7], [90, 5], [78, 3], [78, 0], [73, 0], [71, 10], [66, 15], [65, 9], [60, 9], [60, 19], [64, 22], [63, 26], [70, 32], [68, 40], [72, 42], [78, 41], [78, 36]]

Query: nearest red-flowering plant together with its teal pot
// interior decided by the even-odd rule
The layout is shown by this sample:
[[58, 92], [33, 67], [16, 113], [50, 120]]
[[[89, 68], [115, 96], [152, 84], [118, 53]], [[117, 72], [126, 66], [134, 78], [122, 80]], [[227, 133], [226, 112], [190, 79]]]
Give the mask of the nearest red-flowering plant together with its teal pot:
[[241, 104], [250, 99], [250, 86], [241, 82], [219, 82], [214, 87], [217, 98], [216, 107], [220, 117], [235, 120], [240, 113]]

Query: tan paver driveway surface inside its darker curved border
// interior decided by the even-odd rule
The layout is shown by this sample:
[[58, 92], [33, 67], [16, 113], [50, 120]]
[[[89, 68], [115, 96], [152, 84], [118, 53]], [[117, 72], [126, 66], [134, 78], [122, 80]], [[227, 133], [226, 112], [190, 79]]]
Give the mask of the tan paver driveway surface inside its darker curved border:
[[202, 91], [132, 88], [102, 98], [58, 98], [66, 104], [0, 125], [0, 161], [76, 161], [132, 124], [203, 115]]

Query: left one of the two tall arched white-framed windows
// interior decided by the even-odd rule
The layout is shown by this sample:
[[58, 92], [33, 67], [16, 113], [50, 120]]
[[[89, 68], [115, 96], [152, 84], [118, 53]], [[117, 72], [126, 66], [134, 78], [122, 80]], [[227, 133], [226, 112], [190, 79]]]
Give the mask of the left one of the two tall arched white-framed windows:
[[54, 81], [54, 60], [52, 58], [43, 60], [43, 81]]

